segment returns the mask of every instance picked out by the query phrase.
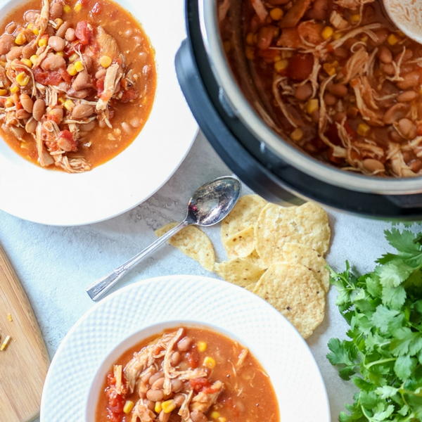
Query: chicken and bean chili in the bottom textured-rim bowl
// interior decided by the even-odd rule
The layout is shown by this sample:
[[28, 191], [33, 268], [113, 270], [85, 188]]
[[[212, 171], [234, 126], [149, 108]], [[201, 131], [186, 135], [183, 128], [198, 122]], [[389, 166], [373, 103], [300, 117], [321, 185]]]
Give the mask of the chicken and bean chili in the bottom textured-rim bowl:
[[117, 359], [96, 422], [279, 422], [267, 373], [248, 349], [198, 327], [167, 330]]

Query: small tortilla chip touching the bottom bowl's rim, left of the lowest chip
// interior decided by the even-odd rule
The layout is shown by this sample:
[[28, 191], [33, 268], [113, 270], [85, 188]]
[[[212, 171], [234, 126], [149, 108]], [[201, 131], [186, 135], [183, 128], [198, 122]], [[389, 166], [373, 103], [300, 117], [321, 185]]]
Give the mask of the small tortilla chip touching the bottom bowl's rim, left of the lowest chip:
[[214, 269], [222, 279], [241, 287], [257, 283], [265, 271], [248, 260], [248, 258], [236, 258], [221, 264], [215, 264]]

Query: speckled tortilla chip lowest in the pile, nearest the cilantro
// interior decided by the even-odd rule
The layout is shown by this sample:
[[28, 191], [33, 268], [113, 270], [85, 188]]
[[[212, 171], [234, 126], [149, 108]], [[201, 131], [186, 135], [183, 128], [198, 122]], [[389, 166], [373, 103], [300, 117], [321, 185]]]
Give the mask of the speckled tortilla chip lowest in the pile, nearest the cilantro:
[[303, 265], [271, 265], [252, 291], [286, 316], [303, 338], [308, 338], [324, 320], [324, 289]]

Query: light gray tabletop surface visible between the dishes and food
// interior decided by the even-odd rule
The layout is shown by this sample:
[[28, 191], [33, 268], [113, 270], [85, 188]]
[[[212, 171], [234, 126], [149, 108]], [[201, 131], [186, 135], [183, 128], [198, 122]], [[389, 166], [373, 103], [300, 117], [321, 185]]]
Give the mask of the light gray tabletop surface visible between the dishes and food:
[[[188, 158], [153, 198], [108, 222], [60, 228], [25, 222], [0, 212], [0, 243], [27, 290], [51, 357], [65, 333], [93, 305], [84, 288], [155, 240], [154, 229], [182, 219], [186, 200], [197, 186], [230, 173], [203, 136], [198, 136]], [[248, 192], [245, 188], [244, 193]], [[383, 230], [389, 224], [338, 212], [330, 214], [333, 245], [328, 262], [342, 269], [347, 259], [362, 271], [371, 269], [376, 257], [387, 248]], [[218, 227], [207, 229], [207, 234], [219, 245]], [[217, 248], [217, 254], [224, 259], [222, 250]], [[141, 263], [124, 284], [166, 274], [212, 276], [181, 252], [165, 246]], [[334, 302], [335, 289], [331, 289], [326, 320], [308, 341], [326, 381], [333, 422], [345, 402], [350, 402], [353, 391], [338, 378], [325, 357], [328, 340], [343, 336], [346, 328]]]

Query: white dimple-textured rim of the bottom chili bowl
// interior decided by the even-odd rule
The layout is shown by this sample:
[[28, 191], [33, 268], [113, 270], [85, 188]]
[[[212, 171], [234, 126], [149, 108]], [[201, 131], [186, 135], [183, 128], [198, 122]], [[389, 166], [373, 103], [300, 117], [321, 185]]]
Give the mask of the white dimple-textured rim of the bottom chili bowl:
[[269, 373], [281, 421], [331, 421], [314, 357], [276, 309], [225, 281], [163, 276], [110, 295], [70, 330], [46, 378], [41, 422], [94, 422], [113, 361], [143, 338], [179, 324], [209, 326], [248, 347]]

